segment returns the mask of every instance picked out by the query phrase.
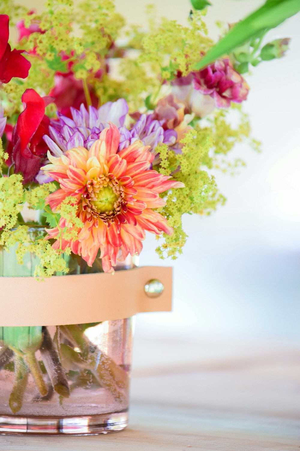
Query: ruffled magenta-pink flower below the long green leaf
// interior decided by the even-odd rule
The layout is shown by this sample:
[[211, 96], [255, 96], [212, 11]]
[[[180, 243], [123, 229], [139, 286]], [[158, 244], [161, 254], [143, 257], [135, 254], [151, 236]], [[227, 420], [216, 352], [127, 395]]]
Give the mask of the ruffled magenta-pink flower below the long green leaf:
[[234, 70], [229, 58], [217, 60], [192, 74], [194, 88], [210, 95], [218, 108], [228, 108], [231, 102], [246, 100], [249, 87], [242, 75]]

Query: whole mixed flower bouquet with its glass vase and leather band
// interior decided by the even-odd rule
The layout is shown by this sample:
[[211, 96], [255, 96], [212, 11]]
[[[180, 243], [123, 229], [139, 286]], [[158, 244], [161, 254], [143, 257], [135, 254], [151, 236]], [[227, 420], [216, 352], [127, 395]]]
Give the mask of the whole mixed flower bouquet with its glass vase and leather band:
[[214, 170], [244, 164], [236, 143], [259, 146], [244, 63], [287, 41], [197, 67], [222, 41], [198, 9], [182, 26], [149, 8], [147, 32], [111, 0], [0, 13], [0, 432], [121, 430], [132, 314], [170, 308], [168, 268], [137, 268], [146, 232], [174, 259], [182, 216], [224, 203]]

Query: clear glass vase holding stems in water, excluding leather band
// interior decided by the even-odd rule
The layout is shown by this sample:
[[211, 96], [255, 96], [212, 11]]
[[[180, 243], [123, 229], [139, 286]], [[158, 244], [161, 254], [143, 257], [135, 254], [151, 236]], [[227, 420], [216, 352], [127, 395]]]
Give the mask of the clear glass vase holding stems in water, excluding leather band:
[[[69, 274], [102, 272], [99, 259], [90, 268], [76, 255], [66, 258]], [[19, 265], [13, 250], [0, 250], [0, 276], [12, 277], [12, 283], [13, 276], [32, 276], [35, 265], [30, 254]], [[116, 270], [132, 267], [130, 258]], [[0, 433], [78, 435], [124, 429], [133, 322], [0, 327]]]

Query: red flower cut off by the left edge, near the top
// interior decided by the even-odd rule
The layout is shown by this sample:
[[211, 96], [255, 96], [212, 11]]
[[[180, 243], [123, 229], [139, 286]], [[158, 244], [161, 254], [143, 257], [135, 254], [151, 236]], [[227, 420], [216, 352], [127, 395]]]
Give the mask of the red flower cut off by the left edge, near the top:
[[0, 14], [0, 83], [9, 83], [13, 77], [26, 78], [31, 63], [21, 53], [11, 50], [9, 40], [9, 16]]

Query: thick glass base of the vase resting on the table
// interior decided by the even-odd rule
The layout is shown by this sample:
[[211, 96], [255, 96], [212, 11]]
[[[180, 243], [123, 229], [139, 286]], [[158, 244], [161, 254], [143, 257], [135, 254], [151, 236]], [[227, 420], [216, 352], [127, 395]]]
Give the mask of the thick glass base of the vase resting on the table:
[[128, 425], [128, 411], [81, 417], [0, 416], [0, 434], [95, 435], [117, 432]]

